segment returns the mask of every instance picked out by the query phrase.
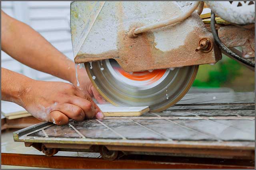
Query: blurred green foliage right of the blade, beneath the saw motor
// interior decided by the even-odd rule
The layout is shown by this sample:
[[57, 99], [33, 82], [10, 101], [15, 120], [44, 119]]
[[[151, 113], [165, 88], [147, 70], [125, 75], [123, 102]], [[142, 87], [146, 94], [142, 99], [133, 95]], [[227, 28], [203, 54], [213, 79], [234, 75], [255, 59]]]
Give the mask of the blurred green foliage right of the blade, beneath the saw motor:
[[[203, 88], [220, 87], [226, 82], [234, 80], [236, 76], [239, 76], [240, 68], [241, 65], [237, 61], [223, 55], [222, 60], [214, 66], [200, 66], [192, 86]], [[200, 77], [200, 73], [204, 74], [204, 77]]]

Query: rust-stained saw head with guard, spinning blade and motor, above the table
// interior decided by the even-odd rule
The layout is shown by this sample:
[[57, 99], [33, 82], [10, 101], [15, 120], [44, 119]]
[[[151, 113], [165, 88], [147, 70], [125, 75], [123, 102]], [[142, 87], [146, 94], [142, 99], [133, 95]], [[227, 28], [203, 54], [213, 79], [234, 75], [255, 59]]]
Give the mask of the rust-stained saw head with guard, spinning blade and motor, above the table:
[[204, 2], [72, 2], [74, 61], [108, 102], [167, 109], [188, 92], [199, 65], [222, 53], [254, 70], [254, 2], [206, 6], [212, 14], [200, 15]]

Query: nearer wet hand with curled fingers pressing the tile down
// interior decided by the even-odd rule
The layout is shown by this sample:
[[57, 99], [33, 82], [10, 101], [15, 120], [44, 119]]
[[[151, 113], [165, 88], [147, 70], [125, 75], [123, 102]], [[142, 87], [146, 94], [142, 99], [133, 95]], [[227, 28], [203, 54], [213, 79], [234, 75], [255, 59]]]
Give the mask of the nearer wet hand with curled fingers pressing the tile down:
[[88, 93], [64, 82], [31, 80], [28, 88], [20, 93], [20, 99], [22, 107], [34, 117], [57, 125], [67, 124], [69, 119], [104, 117]]

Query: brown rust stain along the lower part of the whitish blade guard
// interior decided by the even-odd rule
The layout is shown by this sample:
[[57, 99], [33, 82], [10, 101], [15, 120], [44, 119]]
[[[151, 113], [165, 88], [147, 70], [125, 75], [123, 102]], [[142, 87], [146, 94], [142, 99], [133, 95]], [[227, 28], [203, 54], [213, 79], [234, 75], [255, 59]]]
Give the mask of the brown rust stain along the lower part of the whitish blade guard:
[[[118, 16], [123, 16], [121, 3], [117, 3], [116, 7]], [[143, 25], [141, 23], [131, 23], [130, 29], [138, 26]], [[216, 63], [221, 59], [220, 50], [215, 43], [213, 43], [213, 50], [209, 53], [195, 51], [198, 47], [198, 42], [203, 37], [214, 42], [212, 34], [206, 28], [195, 28], [194, 32], [190, 32], [187, 35], [184, 45], [180, 45], [178, 48], [170, 51], [161, 51], [156, 48], [155, 37], [152, 31], [141, 33], [136, 38], [128, 37], [128, 31], [124, 31], [122, 17], [119, 18], [118, 30], [122, 31], [118, 32], [118, 46], [116, 51], [107, 51], [97, 55], [80, 54], [75, 58], [75, 62], [83, 63], [103, 59], [115, 59], [125, 71], [135, 72]]]

